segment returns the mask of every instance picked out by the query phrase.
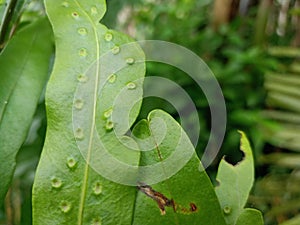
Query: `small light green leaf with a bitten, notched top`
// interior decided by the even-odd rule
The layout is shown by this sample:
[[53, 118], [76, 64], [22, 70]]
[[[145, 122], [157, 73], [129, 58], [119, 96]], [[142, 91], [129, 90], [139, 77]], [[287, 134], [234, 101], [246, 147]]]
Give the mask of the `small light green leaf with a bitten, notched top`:
[[243, 161], [233, 166], [222, 159], [218, 168], [217, 180], [219, 186], [216, 193], [225, 213], [227, 224], [235, 224], [247, 202], [254, 182], [254, 164], [249, 141], [243, 132], [241, 134], [241, 150]]

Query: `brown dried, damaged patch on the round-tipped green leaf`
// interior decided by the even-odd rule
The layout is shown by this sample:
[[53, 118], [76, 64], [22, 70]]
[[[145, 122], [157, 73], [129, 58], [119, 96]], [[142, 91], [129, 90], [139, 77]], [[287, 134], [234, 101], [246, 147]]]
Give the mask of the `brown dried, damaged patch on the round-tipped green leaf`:
[[175, 213], [181, 213], [189, 215], [198, 211], [196, 204], [190, 203], [190, 208], [187, 209], [177, 204], [173, 199], [167, 198], [164, 194], [155, 191], [151, 186], [143, 183], [139, 183], [137, 188], [148, 197], [152, 198], [158, 204], [161, 215], [166, 214], [165, 207], [172, 207]]

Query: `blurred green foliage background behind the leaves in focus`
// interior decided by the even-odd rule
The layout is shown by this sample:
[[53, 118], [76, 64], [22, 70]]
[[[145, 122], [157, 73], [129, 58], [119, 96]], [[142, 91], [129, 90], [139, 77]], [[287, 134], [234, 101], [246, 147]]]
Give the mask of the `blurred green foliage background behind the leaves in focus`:
[[[96, 1], [96, 0], [95, 0]], [[3, 5], [0, 1], [0, 19]], [[42, 1], [14, 1], [13, 17], [0, 47], [18, 29], [45, 15]], [[223, 155], [237, 163], [242, 155], [237, 130], [250, 138], [256, 183], [249, 205], [264, 213], [266, 225], [300, 224], [300, 1], [299, 0], [107, 0], [102, 23], [137, 40], [156, 39], [185, 46], [199, 55], [222, 87], [227, 131], [218, 158], [208, 168], [214, 181]], [[170, 66], [147, 63], [147, 76], [165, 76], [193, 99], [200, 118], [201, 156], [210, 131], [210, 111], [199, 87]], [[184, 104], [182, 105], [184, 107]], [[146, 98], [140, 117], [174, 108]], [[193, 123], [193, 121], [190, 121]], [[44, 96], [36, 111], [0, 224], [31, 224], [31, 187], [46, 131]]]

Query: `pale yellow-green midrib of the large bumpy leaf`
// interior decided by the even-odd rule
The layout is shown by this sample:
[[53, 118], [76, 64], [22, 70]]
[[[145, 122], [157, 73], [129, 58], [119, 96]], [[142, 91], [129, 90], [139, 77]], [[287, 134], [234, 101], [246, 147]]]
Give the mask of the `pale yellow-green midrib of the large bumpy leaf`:
[[95, 78], [95, 86], [94, 86], [94, 98], [93, 98], [93, 113], [92, 113], [92, 124], [91, 124], [91, 130], [90, 130], [90, 138], [89, 138], [89, 145], [87, 150], [87, 156], [86, 156], [86, 164], [84, 168], [84, 175], [83, 175], [83, 184], [81, 188], [81, 194], [80, 194], [80, 203], [79, 203], [79, 213], [78, 213], [78, 224], [83, 224], [83, 212], [84, 212], [84, 203], [86, 199], [86, 192], [87, 192], [87, 184], [88, 184], [88, 174], [89, 174], [89, 162], [91, 158], [91, 149], [92, 149], [92, 140], [94, 136], [94, 127], [95, 127], [95, 119], [96, 119], [96, 99], [97, 99], [97, 88], [99, 84], [99, 58], [100, 58], [100, 46], [99, 46], [99, 37], [97, 33], [97, 28], [95, 26], [94, 21], [91, 19], [88, 13], [85, 12], [83, 7], [80, 5], [80, 3], [75, 0], [75, 4], [80, 8], [83, 12], [83, 14], [86, 16], [86, 18], [89, 20], [90, 24], [92, 25], [93, 32], [95, 35], [96, 40], [96, 78]]

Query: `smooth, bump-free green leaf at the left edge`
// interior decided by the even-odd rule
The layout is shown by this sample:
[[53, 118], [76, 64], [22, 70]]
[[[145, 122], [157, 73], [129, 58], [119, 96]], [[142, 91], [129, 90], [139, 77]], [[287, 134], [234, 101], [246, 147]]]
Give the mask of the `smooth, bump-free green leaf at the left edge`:
[[42, 19], [17, 33], [0, 56], [1, 201], [48, 78], [51, 36], [49, 22]]

